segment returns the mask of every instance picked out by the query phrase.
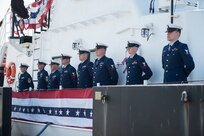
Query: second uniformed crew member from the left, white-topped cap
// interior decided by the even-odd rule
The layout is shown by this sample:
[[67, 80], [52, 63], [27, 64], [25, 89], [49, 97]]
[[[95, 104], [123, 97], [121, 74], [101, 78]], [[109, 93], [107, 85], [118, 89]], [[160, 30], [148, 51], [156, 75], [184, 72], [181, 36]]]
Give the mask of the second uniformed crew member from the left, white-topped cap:
[[47, 64], [44, 61], [38, 61], [38, 90], [46, 90], [48, 85], [48, 73], [44, 69]]

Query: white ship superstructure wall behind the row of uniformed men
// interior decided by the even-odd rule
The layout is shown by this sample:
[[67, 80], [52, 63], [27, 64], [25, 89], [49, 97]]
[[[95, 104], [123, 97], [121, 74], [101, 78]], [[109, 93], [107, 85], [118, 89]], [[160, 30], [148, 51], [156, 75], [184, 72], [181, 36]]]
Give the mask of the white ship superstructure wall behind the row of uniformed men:
[[[136, 40], [142, 44], [139, 54], [145, 58], [153, 72], [153, 76], [148, 81], [149, 84], [162, 83], [161, 58], [162, 49], [168, 44], [165, 31], [171, 19], [171, 2], [158, 0], [153, 3], [150, 4], [149, 0], [54, 0], [50, 28], [40, 33], [26, 31], [25, 34], [32, 35], [33, 38], [29, 49], [20, 45], [18, 39], [8, 39], [11, 34], [8, 12], [0, 35], [1, 53], [6, 51], [7, 65], [9, 62], [15, 62], [17, 73], [19, 73], [20, 63], [30, 65], [28, 72], [36, 80], [39, 59], [49, 63], [52, 57], [66, 53], [73, 56], [71, 64], [77, 68], [78, 49], [91, 50], [91, 60], [94, 61], [96, 57], [93, 49], [96, 42], [102, 42], [108, 45], [107, 56], [113, 58], [116, 64], [119, 74], [118, 85], [124, 85], [126, 73], [123, 71], [126, 66], [122, 64], [122, 61], [127, 57], [125, 47], [128, 40]], [[149, 13], [150, 7], [154, 9], [154, 13]], [[182, 26], [180, 41], [188, 44], [195, 62], [195, 69], [188, 80], [190, 83], [203, 81], [204, 2], [202, 0], [175, 0], [173, 22]], [[144, 29], [149, 31], [142, 35], [141, 31]], [[2, 61], [4, 54], [0, 55]], [[49, 66], [46, 69], [50, 72]], [[17, 84], [18, 76], [12, 86], [13, 90], [17, 90]], [[4, 86], [8, 86], [6, 79]], [[14, 121], [14, 124], [19, 125], [19, 122]], [[38, 124], [31, 126], [37, 126], [37, 130], [39, 129]], [[23, 123], [22, 128], [24, 127], [26, 128], [27, 125]], [[66, 130], [66, 128], [60, 129]], [[55, 132], [57, 131], [52, 132], [53, 135], [56, 135]], [[80, 135], [72, 134], [72, 136]], [[91, 131], [88, 131], [87, 135], [91, 135]]]

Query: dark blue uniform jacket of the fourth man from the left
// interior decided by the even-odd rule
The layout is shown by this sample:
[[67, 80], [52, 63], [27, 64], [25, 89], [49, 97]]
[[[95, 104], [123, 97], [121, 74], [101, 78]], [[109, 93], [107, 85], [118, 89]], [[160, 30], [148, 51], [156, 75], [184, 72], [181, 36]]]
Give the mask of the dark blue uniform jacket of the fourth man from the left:
[[70, 64], [62, 68], [60, 85], [62, 85], [62, 88], [77, 87], [76, 69]]

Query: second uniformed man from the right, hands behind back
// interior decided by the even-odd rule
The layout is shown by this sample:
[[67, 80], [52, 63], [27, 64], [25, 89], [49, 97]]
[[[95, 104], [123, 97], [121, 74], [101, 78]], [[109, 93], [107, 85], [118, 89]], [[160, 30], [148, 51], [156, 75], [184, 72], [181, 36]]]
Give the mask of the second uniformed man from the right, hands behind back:
[[144, 80], [148, 80], [152, 76], [152, 71], [145, 59], [137, 54], [140, 46], [139, 42], [128, 41], [126, 49], [130, 56], [126, 60], [126, 85], [143, 84]]

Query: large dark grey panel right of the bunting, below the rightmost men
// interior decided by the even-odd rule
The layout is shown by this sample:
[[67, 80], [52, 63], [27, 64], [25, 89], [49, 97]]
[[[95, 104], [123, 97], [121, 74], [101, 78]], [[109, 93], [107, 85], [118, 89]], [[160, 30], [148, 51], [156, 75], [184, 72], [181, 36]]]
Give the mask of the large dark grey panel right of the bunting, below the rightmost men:
[[204, 85], [97, 87], [94, 95], [94, 136], [204, 135]]

